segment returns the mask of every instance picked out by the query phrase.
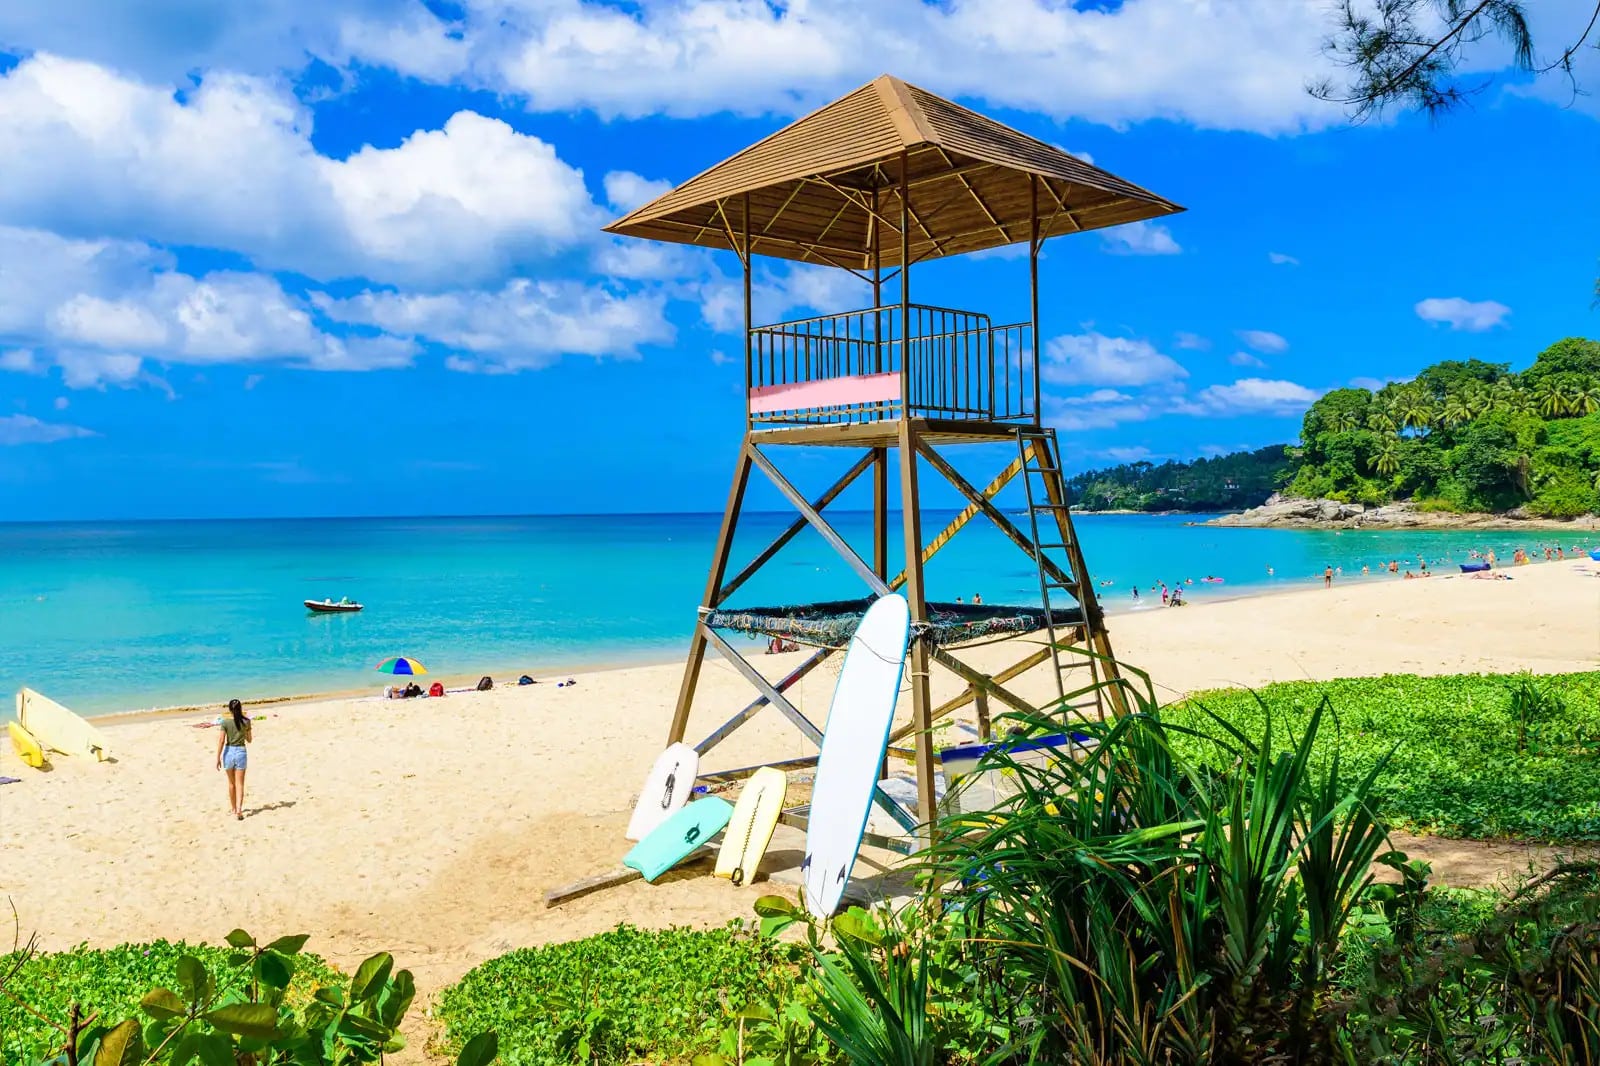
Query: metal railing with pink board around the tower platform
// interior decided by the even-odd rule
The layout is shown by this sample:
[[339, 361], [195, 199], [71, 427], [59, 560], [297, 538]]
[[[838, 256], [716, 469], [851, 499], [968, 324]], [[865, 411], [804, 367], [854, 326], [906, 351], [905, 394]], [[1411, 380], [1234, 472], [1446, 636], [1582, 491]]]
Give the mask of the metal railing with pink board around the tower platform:
[[928, 304], [904, 319], [896, 304], [750, 330], [750, 421], [1038, 421], [1027, 322]]

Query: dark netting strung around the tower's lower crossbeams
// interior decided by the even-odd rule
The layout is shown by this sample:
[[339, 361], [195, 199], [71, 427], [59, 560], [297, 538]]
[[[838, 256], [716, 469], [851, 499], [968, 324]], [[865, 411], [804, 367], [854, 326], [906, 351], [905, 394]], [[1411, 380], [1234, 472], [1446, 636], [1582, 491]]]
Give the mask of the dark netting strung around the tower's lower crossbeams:
[[[829, 600], [792, 607], [714, 610], [704, 611], [704, 618], [712, 629], [781, 637], [818, 648], [842, 648], [850, 643], [869, 607], [872, 607], [872, 599]], [[1078, 607], [1058, 607], [1050, 611], [1050, 618], [1056, 629], [1067, 629], [1083, 621], [1083, 611]], [[1021, 632], [1038, 632], [1040, 629], [1045, 629], [1045, 608], [1042, 607], [928, 603], [930, 639], [946, 648], [997, 640]]]

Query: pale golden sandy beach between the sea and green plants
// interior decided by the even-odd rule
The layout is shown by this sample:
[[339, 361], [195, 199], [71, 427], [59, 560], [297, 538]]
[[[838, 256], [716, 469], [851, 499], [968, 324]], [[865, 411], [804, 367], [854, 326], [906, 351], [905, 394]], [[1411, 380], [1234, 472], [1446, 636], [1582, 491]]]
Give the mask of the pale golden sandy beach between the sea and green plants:
[[[1163, 696], [1402, 671], [1595, 669], [1600, 565], [1510, 573], [1514, 581], [1440, 575], [1152, 608], [1115, 616], [1112, 639]], [[989, 669], [1019, 653], [990, 645], [962, 655]], [[774, 677], [797, 659], [755, 656]], [[510, 948], [619, 920], [749, 916], [768, 885], [734, 888], [702, 871], [544, 908], [547, 888], [611, 869], [624, 853], [622, 828], [664, 743], [680, 672], [669, 663], [581, 674], [563, 688], [262, 707], [242, 823], [226, 816], [216, 735], [202, 715], [112, 725], [117, 759], [102, 765], [58, 757], [40, 773], [8, 747], [0, 773], [22, 781], [0, 787], [0, 895], [45, 948], [218, 941], [235, 925], [306, 932], [310, 949], [339, 964], [392, 949], [424, 992]], [[822, 667], [794, 690], [814, 720], [835, 675], [837, 666]], [[942, 672], [934, 680], [936, 699], [954, 695]], [[1038, 671], [1018, 688], [1038, 698], [1050, 685]], [[749, 691], [710, 658], [688, 739]], [[805, 739], [763, 711], [706, 768], [802, 754]], [[784, 840], [774, 850], [778, 866], [798, 861]], [[1525, 853], [1506, 847], [1451, 866], [1445, 847], [1440, 858], [1442, 874], [1472, 880]]]

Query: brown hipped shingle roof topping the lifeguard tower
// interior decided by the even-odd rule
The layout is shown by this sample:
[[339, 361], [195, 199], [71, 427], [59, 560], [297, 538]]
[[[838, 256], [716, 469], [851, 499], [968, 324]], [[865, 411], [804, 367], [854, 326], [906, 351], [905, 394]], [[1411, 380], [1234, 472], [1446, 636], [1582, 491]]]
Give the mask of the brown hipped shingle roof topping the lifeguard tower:
[[[902, 173], [904, 166], [904, 173]], [[754, 254], [856, 271], [979, 251], [1182, 211], [1051, 144], [882, 75], [606, 226], [738, 251], [749, 197]], [[1037, 208], [1035, 208], [1037, 203]]]

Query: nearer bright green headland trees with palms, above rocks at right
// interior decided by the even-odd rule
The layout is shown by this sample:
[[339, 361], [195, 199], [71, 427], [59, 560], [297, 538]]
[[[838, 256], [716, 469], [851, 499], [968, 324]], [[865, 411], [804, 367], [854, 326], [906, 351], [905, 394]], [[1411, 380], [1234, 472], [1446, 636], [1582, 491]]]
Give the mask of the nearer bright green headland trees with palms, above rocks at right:
[[1306, 411], [1286, 491], [1434, 511], [1600, 511], [1600, 343], [1557, 341], [1518, 373], [1443, 362], [1416, 379], [1334, 389]]

